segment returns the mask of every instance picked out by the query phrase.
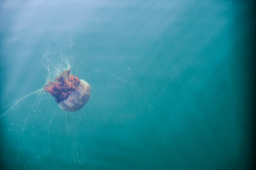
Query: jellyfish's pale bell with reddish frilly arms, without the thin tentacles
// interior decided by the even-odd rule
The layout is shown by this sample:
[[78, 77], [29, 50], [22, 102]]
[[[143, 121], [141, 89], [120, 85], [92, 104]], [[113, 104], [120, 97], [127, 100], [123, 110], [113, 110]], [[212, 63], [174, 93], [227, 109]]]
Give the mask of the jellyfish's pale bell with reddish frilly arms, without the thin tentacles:
[[54, 81], [49, 81], [44, 86], [58, 103], [58, 106], [68, 112], [80, 110], [90, 99], [91, 86], [85, 80], [79, 80], [74, 75], [69, 75], [70, 70], [65, 70]]

